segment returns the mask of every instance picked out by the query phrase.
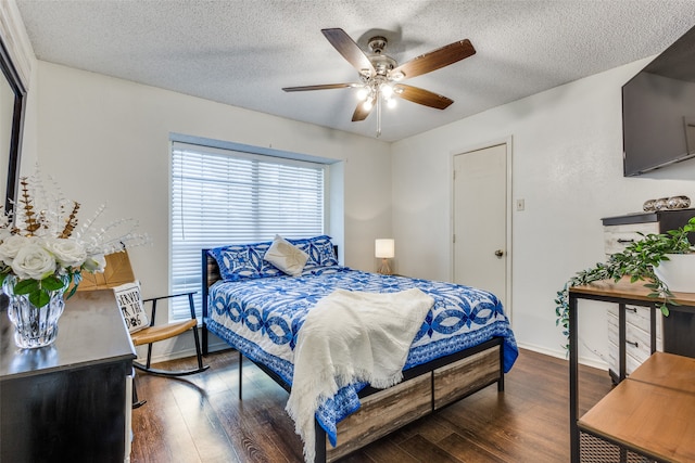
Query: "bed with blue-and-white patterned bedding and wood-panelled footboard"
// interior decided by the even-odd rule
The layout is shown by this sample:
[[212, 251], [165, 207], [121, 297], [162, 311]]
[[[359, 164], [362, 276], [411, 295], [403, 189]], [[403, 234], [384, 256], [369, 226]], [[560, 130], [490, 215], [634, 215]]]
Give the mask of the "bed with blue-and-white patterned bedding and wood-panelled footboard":
[[306, 453], [305, 442], [313, 461], [334, 461], [495, 383], [504, 390], [504, 373], [518, 351], [494, 295], [340, 266], [329, 236], [290, 240], [307, 255], [301, 272], [290, 275], [263, 258], [274, 242], [203, 249], [203, 349], [208, 333], [218, 336], [290, 394], [301, 329], [327, 296], [341, 290], [396, 294], [417, 288], [433, 300], [400, 383], [384, 389], [364, 382], [341, 385], [320, 404], [312, 433], [315, 453]]

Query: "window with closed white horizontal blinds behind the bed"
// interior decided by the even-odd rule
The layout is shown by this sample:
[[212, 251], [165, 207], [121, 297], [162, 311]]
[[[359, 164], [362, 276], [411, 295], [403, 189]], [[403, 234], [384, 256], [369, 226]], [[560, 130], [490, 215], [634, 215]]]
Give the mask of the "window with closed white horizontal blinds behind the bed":
[[[201, 249], [271, 241], [276, 233], [287, 237], [323, 234], [326, 168], [249, 153], [245, 146], [239, 151], [173, 142], [173, 294], [198, 291], [200, 317]], [[184, 319], [188, 300], [176, 299], [172, 319]]]

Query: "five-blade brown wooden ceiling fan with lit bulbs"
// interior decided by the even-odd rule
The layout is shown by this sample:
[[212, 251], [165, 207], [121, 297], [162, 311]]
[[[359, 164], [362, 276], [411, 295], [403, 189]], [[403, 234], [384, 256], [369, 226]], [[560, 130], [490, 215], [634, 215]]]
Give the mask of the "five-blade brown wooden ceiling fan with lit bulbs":
[[343, 29], [321, 29], [321, 33], [336, 50], [357, 69], [359, 82], [286, 87], [282, 90], [296, 92], [356, 88], [358, 89], [357, 95], [361, 102], [352, 115], [352, 120], [354, 123], [366, 119], [376, 106], [378, 118], [377, 137], [381, 134], [382, 100], [387, 105], [393, 106], [395, 104], [394, 98], [402, 98], [437, 110], [445, 110], [454, 102], [441, 94], [401, 83], [401, 81], [448, 66], [476, 53], [476, 49], [473, 49], [470, 41], [465, 39], [421, 54], [399, 65], [394, 59], [383, 53], [388, 44], [386, 37], [376, 36], [370, 38], [368, 43], [371, 52], [367, 53]]

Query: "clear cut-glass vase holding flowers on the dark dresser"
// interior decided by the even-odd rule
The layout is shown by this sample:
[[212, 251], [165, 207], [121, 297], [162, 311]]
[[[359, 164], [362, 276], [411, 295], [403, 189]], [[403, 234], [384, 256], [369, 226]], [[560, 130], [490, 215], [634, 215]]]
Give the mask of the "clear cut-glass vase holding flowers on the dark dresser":
[[9, 275], [2, 284], [10, 298], [8, 316], [14, 325], [14, 344], [23, 349], [51, 345], [58, 336], [58, 320], [65, 308], [66, 287], [50, 292], [51, 299], [43, 307], [35, 307], [28, 295], [14, 294], [16, 278]]

